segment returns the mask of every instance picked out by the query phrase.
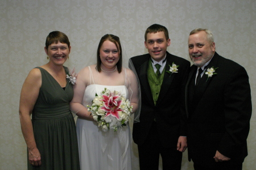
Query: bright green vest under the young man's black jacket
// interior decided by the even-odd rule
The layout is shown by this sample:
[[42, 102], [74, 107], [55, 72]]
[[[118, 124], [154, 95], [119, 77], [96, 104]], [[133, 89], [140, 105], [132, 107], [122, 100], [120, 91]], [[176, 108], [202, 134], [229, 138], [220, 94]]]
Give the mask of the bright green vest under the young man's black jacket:
[[163, 69], [160, 76], [157, 77], [152, 66], [152, 61], [151, 59], [149, 59], [148, 69], [147, 69], [147, 80], [148, 80], [148, 83], [150, 84], [150, 90], [151, 90], [151, 94], [152, 94], [155, 105], [156, 105], [156, 101], [158, 101], [159, 92], [162, 86], [164, 70], [165, 68]]

